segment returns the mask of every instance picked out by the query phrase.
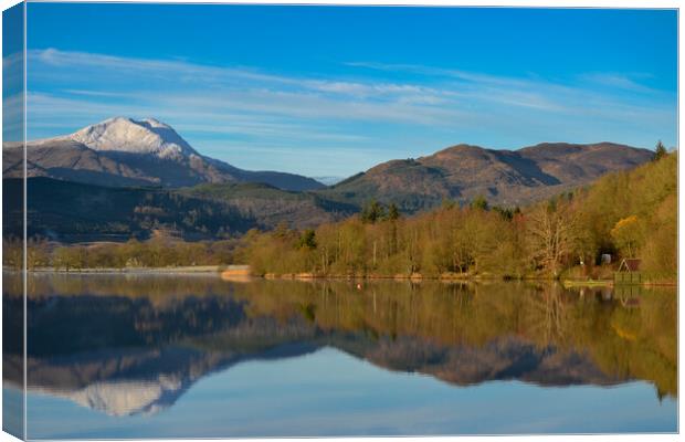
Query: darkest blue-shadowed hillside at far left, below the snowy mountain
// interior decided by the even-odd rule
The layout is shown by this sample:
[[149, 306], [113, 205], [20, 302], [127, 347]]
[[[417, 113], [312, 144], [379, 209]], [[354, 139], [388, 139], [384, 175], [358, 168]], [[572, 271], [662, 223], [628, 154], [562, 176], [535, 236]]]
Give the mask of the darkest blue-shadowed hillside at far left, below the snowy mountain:
[[[3, 180], [6, 225], [21, 227], [21, 179]], [[187, 240], [239, 234], [254, 219], [229, 204], [185, 197], [155, 188], [113, 188], [29, 178], [28, 234], [61, 242], [147, 239], [156, 231]], [[21, 232], [7, 231], [19, 235]]]

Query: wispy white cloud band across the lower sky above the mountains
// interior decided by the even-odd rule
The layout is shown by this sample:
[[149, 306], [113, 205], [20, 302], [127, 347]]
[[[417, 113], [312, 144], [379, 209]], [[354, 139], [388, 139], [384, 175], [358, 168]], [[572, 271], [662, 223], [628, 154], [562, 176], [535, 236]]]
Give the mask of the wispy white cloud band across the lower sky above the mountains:
[[[228, 161], [235, 148], [217, 152], [229, 144], [247, 151], [264, 146], [333, 149], [340, 156], [345, 148], [356, 152], [347, 156], [354, 164], [345, 156], [338, 164], [352, 172], [368, 162], [360, 158], [370, 158], [365, 152], [373, 148], [392, 158], [393, 151], [426, 152], [443, 143], [516, 148], [544, 139], [612, 139], [645, 145], [675, 134], [675, 95], [645, 88], [635, 75], [590, 73], [559, 83], [411, 64], [355, 62], [347, 67], [350, 75], [323, 77], [320, 72], [286, 75], [32, 50], [29, 135], [57, 135], [114, 115], [151, 116], [175, 126], [200, 151], [211, 149]], [[272, 168], [306, 173], [313, 167], [295, 159], [283, 164], [286, 157], [272, 155]]]

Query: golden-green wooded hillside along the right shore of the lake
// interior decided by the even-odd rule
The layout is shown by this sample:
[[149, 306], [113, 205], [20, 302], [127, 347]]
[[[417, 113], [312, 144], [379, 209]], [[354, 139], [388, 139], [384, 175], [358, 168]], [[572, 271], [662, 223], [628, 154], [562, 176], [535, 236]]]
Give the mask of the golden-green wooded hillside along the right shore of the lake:
[[597, 277], [611, 254], [642, 257], [650, 278], [674, 281], [676, 172], [668, 154], [523, 210], [478, 198], [403, 218], [375, 202], [316, 230], [251, 232], [243, 257], [257, 274]]

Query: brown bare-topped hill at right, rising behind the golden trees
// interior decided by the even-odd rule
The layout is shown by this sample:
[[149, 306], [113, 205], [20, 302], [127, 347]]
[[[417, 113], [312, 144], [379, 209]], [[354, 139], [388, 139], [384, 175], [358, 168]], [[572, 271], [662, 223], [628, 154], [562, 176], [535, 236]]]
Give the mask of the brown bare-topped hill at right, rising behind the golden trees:
[[361, 204], [370, 199], [394, 202], [408, 213], [443, 200], [521, 206], [634, 168], [653, 152], [612, 143], [545, 143], [518, 150], [457, 145], [418, 159], [380, 164], [319, 191], [327, 198]]

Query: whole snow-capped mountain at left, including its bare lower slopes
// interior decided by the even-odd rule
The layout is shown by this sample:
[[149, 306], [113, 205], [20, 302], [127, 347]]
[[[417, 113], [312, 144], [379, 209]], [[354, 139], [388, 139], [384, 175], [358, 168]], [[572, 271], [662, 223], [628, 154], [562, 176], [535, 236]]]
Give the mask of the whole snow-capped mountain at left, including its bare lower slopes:
[[[4, 144], [3, 177], [21, 177], [22, 146]], [[263, 182], [284, 190], [325, 186], [312, 178], [250, 171], [197, 152], [170, 126], [152, 118], [116, 117], [74, 134], [30, 141], [29, 177], [49, 177], [98, 186], [162, 186], [202, 182]]]

